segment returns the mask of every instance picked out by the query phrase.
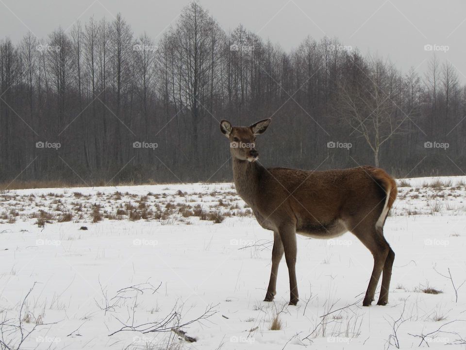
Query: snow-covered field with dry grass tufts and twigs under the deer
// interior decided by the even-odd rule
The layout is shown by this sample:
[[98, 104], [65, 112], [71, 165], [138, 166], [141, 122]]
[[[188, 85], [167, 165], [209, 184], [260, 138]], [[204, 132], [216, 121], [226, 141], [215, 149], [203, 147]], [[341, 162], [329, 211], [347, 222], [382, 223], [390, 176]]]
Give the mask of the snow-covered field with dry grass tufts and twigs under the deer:
[[[0, 341], [11, 349], [21, 339], [20, 349], [466, 349], [466, 176], [399, 185], [384, 230], [396, 253], [384, 307], [362, 307], [373, 260], [350, 233], [299, 236], [298, 306], [287, 305], [284, 260], [275, 301], [262, 301], [272, 234], [232, 184], [0, 192]], [[281, 329], [270, 330], [277, 315]], [[178, 326], [197, 341], [179, 340], [170, 332]]]

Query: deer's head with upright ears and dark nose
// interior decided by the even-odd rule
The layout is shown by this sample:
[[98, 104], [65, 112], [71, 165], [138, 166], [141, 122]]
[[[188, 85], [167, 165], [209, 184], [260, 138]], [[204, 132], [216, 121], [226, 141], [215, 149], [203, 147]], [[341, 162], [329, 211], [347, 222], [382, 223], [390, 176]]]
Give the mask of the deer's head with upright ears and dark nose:
[[250, 126], [232, 126], [226, 120], [220, 122], [220, 131], [230, 140], [232, 156], [253, 162], [259, 157], [255, 148], [256, 135], [263, 134], [272, 120], [264, 119]]

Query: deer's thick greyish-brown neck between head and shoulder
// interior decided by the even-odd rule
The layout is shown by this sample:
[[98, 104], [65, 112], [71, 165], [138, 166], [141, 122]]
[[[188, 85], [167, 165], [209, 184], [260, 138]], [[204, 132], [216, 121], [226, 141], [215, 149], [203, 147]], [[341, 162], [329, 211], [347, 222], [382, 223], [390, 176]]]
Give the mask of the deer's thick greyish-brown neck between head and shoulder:
[[254, 208], [264, 168], [257, 162], [233, 158], [233, 181], [240, 197]]

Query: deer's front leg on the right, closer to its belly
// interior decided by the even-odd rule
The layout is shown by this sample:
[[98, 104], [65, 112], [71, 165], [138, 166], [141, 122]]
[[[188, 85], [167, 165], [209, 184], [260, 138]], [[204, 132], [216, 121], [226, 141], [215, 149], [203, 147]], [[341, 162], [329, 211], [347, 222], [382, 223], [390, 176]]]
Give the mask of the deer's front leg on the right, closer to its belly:
[[299, 300], [298, 282], [296, 281], [296, 226], [294, 224], [286, 224], [279, 229], [280, 237], [282, 238], [283, 249], [285, 252], [286, 265], [290, 275], [290, 305], [296, 305]]

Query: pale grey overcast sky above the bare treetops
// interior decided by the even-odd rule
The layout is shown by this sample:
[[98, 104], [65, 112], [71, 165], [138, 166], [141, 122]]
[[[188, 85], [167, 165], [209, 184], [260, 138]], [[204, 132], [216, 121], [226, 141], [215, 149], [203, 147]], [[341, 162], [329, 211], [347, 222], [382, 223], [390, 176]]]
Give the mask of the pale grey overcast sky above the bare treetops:
[[[327, 35], [362, 53], [388, 56], [403, 71], [427, 68], [432, 51], [457, 68], [466, 82], [465, 0], [199, 0], [228, 32], [239, 23], [286, 50], [306, 35]], [[28, 29], [39, 38], [92, 15], [112, 19], [121, 12], [136, 35], [157, 37], [176, 22], [187, 0], [0, 0], [0, 36], [14, 42]], [[160, 38], [160, 36], [158, 36]], [[447, 47], [448, 46], [448, 47]], [[447, 51], [448, 49], [448, 51]]]

